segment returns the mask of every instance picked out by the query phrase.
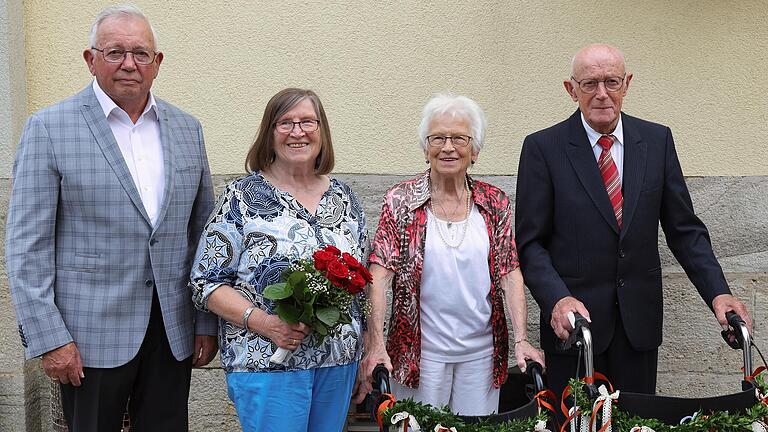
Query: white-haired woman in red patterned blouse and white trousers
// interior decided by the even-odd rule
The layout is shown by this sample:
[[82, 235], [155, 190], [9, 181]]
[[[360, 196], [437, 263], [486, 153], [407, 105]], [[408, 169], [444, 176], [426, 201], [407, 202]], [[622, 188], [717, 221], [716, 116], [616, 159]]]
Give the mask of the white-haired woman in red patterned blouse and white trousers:
[[424, 107], [419, 138], [430, 169], [387, 191], [369, 258], [372, 313], [358, 400], [370, 390], [372, 369], [384, 363], [397, 399], [448, 405], [462, 415], [496, 412], [510, 345], [505, 300], [517, 364], [525, 369], [526, 359], [544, 362], [526, 336], [509, 199], [467, 175], [485, 124], [477, 103], [463, 96], [436, 95]]

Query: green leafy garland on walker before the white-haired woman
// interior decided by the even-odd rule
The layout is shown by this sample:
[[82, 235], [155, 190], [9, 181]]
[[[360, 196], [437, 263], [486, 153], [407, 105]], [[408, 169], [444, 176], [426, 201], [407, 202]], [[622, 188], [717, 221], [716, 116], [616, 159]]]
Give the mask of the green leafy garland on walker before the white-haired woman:
[[459, 432], [530, 432], [534, 430], [539, 420], [547, 420], [545, 415], [539, 414], [537, 417], [514, 419], [504, 423], [484, 421], [477, 424], [466, 424], [447, 406], [435, 408], [432, 405], [415, 402], [409, 398], [395, 402], [394, 406], [384, 411], [384, 424], [392, 426], [392, 416], [403, 411], [407, 411], [408, 414], [416, 418], [422, 431], [429, 432], [433, 431], [437, 425], [442, 425], [445, 428], [455, 427]]

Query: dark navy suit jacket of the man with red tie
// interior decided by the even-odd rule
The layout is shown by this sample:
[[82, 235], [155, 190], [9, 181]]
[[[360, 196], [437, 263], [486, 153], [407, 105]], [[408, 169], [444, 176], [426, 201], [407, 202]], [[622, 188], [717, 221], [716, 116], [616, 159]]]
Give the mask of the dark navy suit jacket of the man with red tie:
[[707, 229], [694, 214], [671, 131], [623, 113], [622, 123], [621, 231], [578, 110], [523, 143], [515, 234], [548, 351], [557, 339], [549, 324], [552, 308], [569, 295], [589, 310], [596, 354], [610, 344], [617, 319], [636, 350], [661, 345], [659, 222], [707, 305], [730, 293]]

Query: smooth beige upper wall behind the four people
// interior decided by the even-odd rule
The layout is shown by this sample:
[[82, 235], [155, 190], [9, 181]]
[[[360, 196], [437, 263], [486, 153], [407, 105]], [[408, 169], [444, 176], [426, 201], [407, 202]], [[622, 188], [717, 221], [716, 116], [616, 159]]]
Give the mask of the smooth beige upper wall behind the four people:
[[[137, 1], [166, 58], [157, 94], [197, 115], [215, 173], [237, 173], [264, 105], [316, 90], [337, 172], [412, 173], [420, 109], [475, 98], [489, 138], [474, 168], [514, 174], [526, 134], [575, 108], [570, 56], [610, 41], [635, 73], [628, 113], [672, 127], [687, 175], [766, 175], [768, 1]], [[90, 76], [81, 58], [103, 1], [25, 1], [28, 110]]]

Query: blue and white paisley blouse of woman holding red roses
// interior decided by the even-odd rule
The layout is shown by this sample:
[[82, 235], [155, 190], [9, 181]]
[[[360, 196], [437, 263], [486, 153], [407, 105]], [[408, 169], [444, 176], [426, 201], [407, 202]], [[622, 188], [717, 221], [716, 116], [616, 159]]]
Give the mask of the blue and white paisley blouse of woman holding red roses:
[[[367, 232], [363, 207], [346, 184], [331, 179], [316, 214], [293, 196], [275, 188], [260, 172], [232, 181], [219, 198], [200, 238], [192, 266], [192, 298], [207, 311], [208, 296], [219, 286], [232, 286], [254, 305], [274, 314], [274, 303], [262, 297], [282, 271], [319, 247], [334, 245], [364, 261]], [[221, 363], [227, 372], [301, 370], [337, 366], [360, 359], [364, 316], [355, 302], [352, 324], [315, 347], [310, 334], [284, 366], [271, 364], [277, 346], [257, 333], [219, 319]]]

